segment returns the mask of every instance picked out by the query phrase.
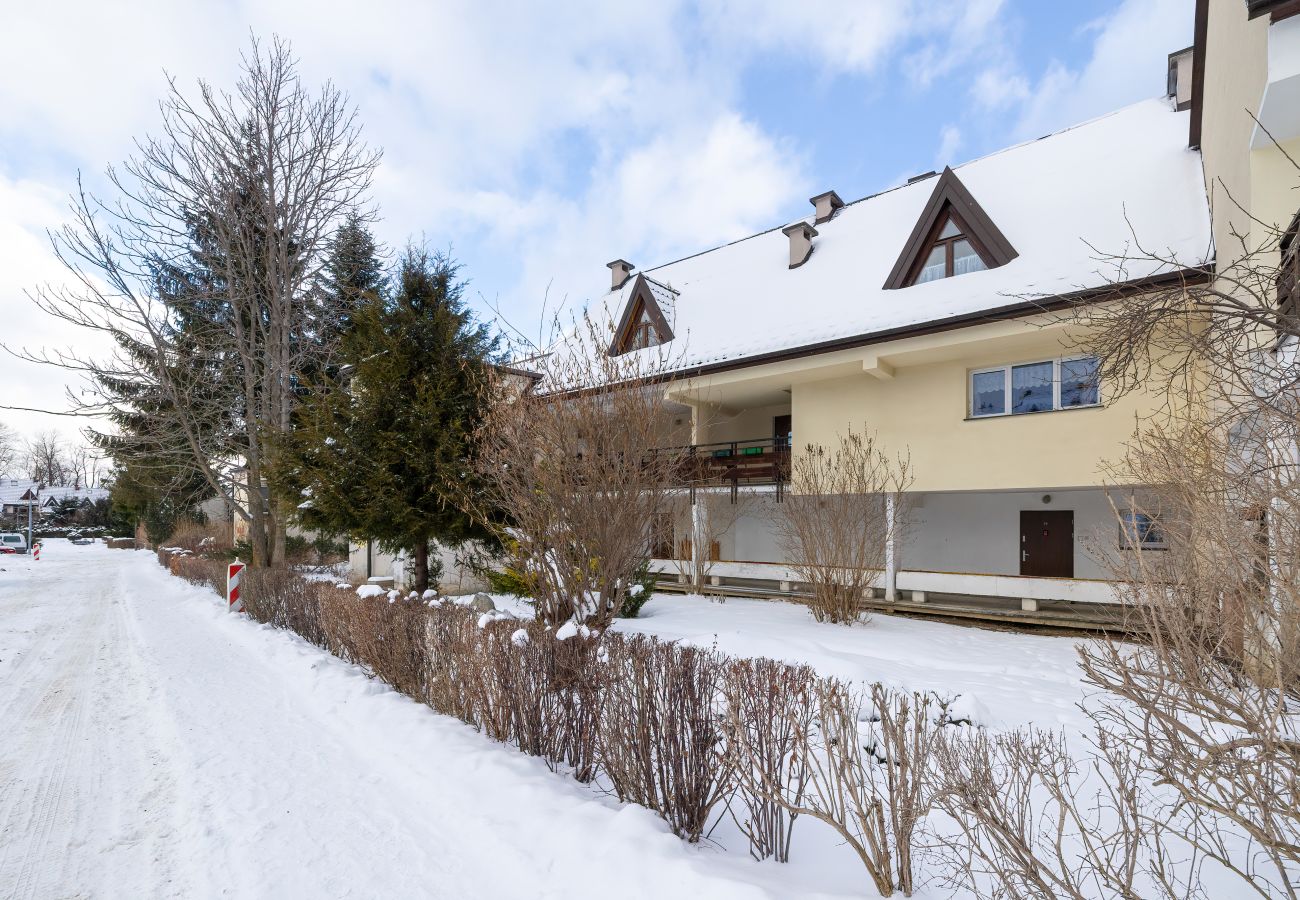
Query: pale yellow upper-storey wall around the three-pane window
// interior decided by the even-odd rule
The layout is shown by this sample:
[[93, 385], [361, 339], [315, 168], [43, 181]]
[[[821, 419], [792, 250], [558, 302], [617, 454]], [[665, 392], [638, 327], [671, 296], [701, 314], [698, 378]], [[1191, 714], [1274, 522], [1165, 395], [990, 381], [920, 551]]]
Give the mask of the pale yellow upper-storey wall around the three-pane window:
[[[1014, 490], [1105, 484], [1139, 423], [1166, 410], [1160, 385], [1123, 397], [1101, 386], [1100, 407], [971, 419], [970, 372], [993, 365], [1079, 355], [1066, 326], [1019, 323], [979, 325], [797, 363], [754, 367], [697, 384], [705, 395], [745, 395], [754, 384], [788, 385], [794, 451], [832, 447], [848, 428], [875, 433], [890, 453], [910, 455], [914, 490]], [[892, 377], [876, 377], [872, 371]], [[754, 404], [732, 423], [762, 437], [780, 407]], [[729, 423], [731, 424], [731, 423]], [[731, 437], [731, 427], [707, 440]], [[1113, 480], [1113, 479], [1110, 479]]]

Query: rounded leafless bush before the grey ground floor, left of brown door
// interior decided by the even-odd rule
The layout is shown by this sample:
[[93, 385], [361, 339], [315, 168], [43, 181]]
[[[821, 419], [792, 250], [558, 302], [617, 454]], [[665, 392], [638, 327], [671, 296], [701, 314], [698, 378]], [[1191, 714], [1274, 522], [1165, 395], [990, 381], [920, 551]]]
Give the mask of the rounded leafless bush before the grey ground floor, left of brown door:
[[809, 445], [794, 455], [776, 529], [789, 567], [811, 589], [818, 622], [859, 619], [859, 601], [898, 544], [910, 484], [906, 457], [889, 457], [852, 428], [837, 447]]

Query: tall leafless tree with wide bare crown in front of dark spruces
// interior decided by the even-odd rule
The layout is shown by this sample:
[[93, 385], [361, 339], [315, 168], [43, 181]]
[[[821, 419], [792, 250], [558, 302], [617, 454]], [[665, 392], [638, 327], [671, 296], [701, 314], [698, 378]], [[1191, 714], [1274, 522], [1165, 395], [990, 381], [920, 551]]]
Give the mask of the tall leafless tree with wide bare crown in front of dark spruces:
[[243, 463], [260, 498], [269, 446], [291, 427], [296, 376], [321, 364], [338, 311], [316, 290], [329, 241], [364, 202], [378, 152], [347, 98], [302, 85], [289, 46], [257, 40], [233, 94], [170, 82], [161, 134], [108, 177], [117, 192], [73, 200], [53, 238], [73, 276], [38, 307], [105, 334], [104, 359], [22, 351], [90, 377], [73, 411], [110, 417], [118, 459], [181, 479], [202, 472], [251, 524], [254, 563], [283, 555], [286, 509], [240, 498]]

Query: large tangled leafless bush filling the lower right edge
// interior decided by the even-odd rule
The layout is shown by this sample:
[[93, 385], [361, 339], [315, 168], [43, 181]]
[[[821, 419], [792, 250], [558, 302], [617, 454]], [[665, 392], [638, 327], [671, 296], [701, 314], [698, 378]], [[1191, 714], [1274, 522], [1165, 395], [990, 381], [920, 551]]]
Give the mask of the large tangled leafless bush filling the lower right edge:
[[1261, 404], [1141, 434], [1122, 470], [1169, 549], [1112, 563], [1148, 640], [1080, 648], [1098, 731], [1174, 793], [1145, 814], [1262, 896], [1300, 893], [1296, 433]]

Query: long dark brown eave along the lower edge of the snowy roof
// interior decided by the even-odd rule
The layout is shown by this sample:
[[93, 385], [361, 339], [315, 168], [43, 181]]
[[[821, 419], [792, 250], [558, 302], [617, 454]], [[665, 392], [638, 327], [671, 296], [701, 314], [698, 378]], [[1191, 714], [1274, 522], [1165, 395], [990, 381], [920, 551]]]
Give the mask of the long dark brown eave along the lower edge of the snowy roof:
[[792, 347], [789, 350], [776, 350], [767, 354], [745, 356], [744, 359], [708, 363], [675, 372], [673, 377], [694, 378], [701, 375], [714, 375], [716, 372], [729, 372], [733, 369], [749, 368], [751, 365], [764, 365], [767, 363], [780, 363], [790, 359], [801, 359], [803, 356], [816, 356], [818, 354], [832, 352], [836, 350], [854, 350], [857, 347], [866, 347], [874, 343], [887, 343], [889, 341], [901, 341], [904, 338], [920, 337], [923, 334], [953, 332], [971, 325], [1005, 321], [1008, 319], [1020, 319], [1023, 316], [1032, 316], [1040, 312], [1056, 312], [1072, 306], [1104, 303], [1121, 295], [1140, 294], [1149, 290], [1175, 287], [1178, 285], [1199, 285], [1209, 281], [1209, 267], [1179, 269], [1176, 272], [1149, 276], [1147, 278], [1135, 278], [1118, 285], [1102, 285], [1101, 287], [1088, 287], [1070, 294], [1057, 294], [1054, 297], [1045, 297], [1036, 300], [1020, 300], [1018, 303], [1009, 303], [993, 310], [968, 312], [959, 316], [950, 316], [948, 319], [936, 319], [916, 325], [904, 325], [901, 328], [890, 328], [881, 332], [868, 332], [866, 334], [836, 338], [833, 341], [822, 341], [819, 343], [810, 343], [802, 347]]

